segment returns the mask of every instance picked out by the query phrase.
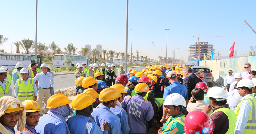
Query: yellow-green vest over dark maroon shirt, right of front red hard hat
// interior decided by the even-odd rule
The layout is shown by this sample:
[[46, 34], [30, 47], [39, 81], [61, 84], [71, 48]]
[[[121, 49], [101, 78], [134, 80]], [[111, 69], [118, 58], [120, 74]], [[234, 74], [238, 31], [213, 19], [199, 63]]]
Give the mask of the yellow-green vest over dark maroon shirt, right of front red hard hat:
[[226, 132], [226, 134], [234, 134], [234, 130], [235, 130], [235, 126], [236, 126], [235, 112], [229, 108], [220, 108], [220, 109], [217, 109], [214, 112], [212, 112], [212, 114], [210, 116], [212, 116], [214, 113], [216, 113], [218, 111], [222, 111], [228, 116], [229, 127], [228, 127], [228, 131]]

